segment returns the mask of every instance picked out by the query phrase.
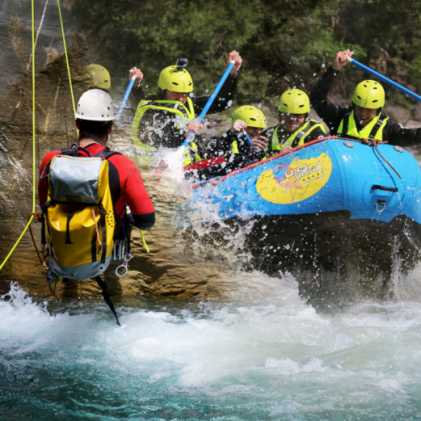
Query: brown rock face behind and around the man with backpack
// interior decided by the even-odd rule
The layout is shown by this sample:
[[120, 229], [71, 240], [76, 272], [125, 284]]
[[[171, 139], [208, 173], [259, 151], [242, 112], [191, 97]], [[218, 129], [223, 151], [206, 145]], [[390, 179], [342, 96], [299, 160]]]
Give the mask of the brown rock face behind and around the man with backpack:
[[[2, 48], [0, 53], [3, 55], [2, 63], [10, 62], [7, 69], [11, 76], [7, 82], [1, 79], [1, 262], [18, 240], [32, 212], [33, 171], [36, 186], [42, 158], [51, 150], [69, 147], [77, 139], [65, 55], [59, 54], [54, 48], [45, 51], [45, 46], [38, 46], [35, 55], [36, 133], [33, 154], [30, 32], [22, 26], [22, 20], [13, 18], [17, 16], [17, 11], [13, 9], [8, 12], [12, 15], [11, 20], [8, 23], [2, 21], [0, 27], [3, 44], [8, 47]], [[89, 64], [83, 39], [72, 39], [72, 46], [67, 53], [72, 80], [77, 81], [76, 76]], [[83, 88], [77, 82], [72, 88], [77, 101]], [[131, 118], [129, 113], [124, 115], [109, 140], [109, 147], [136, 160], [135, 147], [129, 135]], [[169, 181], [163, 180], [156, 188], [149, 185], [149, 171], [153, 168], [154, 163], [141, 168], [147, 190], [156, 206], [156, 225], [145, 232], [150, 253], [146, 253], [140, 232], [133, 230], [133, 258], [128, 264], [128, 274], [119, 278], [114, 274], [115, 267], [110, 267], [105, 274], [110, 294], [187, 297], [214, 296], [232, 291], [231, 285], [226, 286], [219, 281], [222, 279], [220, 271], [227, 269], [227, 256], [219, 256], [218, 253], [213, 255], [209, 250], [201, 255], [203, 246], [196, 241], [194, 230], [186, 222], [189, 193], [184, 186], [174, 185], [171, 178]], [[174, 192], [177, 192], [177, 197]], [[37, 194], [34, 201], [38, 203]], [[36, 210], [39, 210], [39, 206], [36, 206]], [[41, 224], [33, 222], [32, 229], [36, 243], [40, 245]], [[45, 275], [41, 273], [41, 264], [29, 231], [1, 269], [1, 295], [8, 292], [11, 281], [18, 281], [22, 288], [33, 295], [51, 295]], [[92, 280], [70, 281], [66, 284], [60, 281], [55, 293], [59, 298], [83, 298], [98, 295], [100, 290]]]

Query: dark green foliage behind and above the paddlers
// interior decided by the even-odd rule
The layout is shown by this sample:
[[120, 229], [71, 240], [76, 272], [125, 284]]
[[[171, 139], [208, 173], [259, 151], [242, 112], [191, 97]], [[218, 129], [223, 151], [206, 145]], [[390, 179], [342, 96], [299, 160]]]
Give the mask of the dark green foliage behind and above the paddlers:
[[[92, 60], [109, 69], [121, 90], [136, 65], [145, 91], [155, 93], [161, 69], [187, 57], [201, 95], [213, 89], [236, 50], [243, 57], [236, 105], [271, 105], [286, 88], [309, 92], [346, 48], [377, 72], [421, 89], [417, 0], [74, 0], [72, 11], [96, 48]], [[341, 72], [346, 92], [363, 77], [347, 66]]]

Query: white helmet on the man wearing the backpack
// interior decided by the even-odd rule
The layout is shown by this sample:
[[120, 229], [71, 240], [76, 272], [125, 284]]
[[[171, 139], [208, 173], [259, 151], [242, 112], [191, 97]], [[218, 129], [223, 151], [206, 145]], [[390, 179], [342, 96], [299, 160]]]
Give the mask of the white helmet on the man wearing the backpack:
[[114, 106], [111, 97], [102, 89], [90, 89], [79, 99], [76, 119], [109, 121], [114, 120]]

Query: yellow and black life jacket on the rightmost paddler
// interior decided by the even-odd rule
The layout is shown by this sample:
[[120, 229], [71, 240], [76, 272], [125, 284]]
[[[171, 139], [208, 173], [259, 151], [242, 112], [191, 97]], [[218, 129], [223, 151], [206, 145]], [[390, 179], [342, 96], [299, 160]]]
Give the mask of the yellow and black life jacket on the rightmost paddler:
[[352, 111], [351, 113], [346, 114], [340, 122], [337, 134], [342, 138], [377, 139], [382, 141], [383, 128], [385, 128], [388, 119], [389, 117], [385, 113], [380, 112], [380, 114], [375, 116], [366, 127], [358, 131], [354, 118], [354, 111]]

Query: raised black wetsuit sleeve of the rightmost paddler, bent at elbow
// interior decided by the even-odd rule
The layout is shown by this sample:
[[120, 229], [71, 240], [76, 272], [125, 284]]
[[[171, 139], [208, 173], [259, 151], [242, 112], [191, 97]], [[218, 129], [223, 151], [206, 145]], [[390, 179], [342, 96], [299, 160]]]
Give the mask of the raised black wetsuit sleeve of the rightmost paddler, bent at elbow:
[[350, 111], [350, 109], [342, 108], [328, 100], [328, 93], [338, 73], [338, 70], [329, 67], [316, 83], [309, 96], [314, 111], [326, 123], [332, 134], [338, 133], [340, 122], [345, 114]]

